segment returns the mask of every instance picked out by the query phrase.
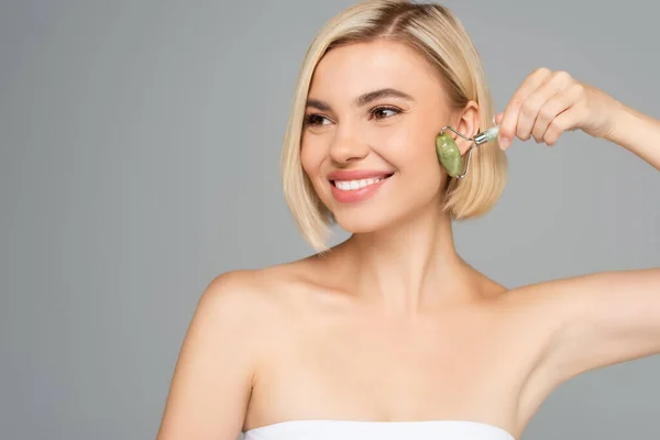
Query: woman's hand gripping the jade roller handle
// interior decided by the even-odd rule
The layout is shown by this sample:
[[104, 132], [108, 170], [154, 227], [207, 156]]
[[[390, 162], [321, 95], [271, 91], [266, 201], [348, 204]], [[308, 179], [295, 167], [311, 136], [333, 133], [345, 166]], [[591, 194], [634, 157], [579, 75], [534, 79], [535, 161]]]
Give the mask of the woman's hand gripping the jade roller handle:
[[565, 72], [540, 68], [530, 74], [497, 114], [499, 146], [514, 138], [554, 145], [564, 131], [582, 130], [595, 138], [613, 132], [622, 105], [595, 87], [573, 79]]

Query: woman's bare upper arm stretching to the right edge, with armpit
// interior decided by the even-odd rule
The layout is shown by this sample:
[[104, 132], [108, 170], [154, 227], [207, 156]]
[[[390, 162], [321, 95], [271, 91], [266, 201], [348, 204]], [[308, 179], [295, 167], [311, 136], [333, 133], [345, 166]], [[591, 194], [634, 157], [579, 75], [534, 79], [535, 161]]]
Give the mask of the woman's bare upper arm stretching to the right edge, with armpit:
[[497, 300], [529, 356], [520, 393], [525, 415], [579, 374], [660, 353], [659, 268], [547, 280]]

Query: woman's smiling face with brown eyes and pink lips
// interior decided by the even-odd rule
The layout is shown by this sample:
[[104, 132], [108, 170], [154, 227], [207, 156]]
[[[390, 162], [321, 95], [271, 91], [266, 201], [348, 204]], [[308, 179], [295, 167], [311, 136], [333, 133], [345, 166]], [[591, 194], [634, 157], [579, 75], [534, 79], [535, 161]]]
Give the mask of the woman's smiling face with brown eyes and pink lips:
[[376, 231], [438, 211], [447, 175], [435, 140], [444, 125], [469, 130], [464, 123], [413, 50], [385, 41], [337, 47], [310, 85], [302, 168], [344, 230]]

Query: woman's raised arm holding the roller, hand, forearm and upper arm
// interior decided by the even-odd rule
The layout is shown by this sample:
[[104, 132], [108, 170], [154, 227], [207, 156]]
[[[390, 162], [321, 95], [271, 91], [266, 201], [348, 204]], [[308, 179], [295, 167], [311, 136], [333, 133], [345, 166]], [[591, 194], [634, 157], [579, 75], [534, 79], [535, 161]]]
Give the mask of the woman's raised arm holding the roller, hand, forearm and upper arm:
[[[499, 144], [534, 138], [553, 145], [564, 131], [612, 141], [660, 170], [660, 121], [565, 72], [538, 69], [498, 114]], [[652, 199], [658, 199], [658, 191]], [[556, 384], [601, 366], [660, 354], [660, 267], [606, 272], [528, 286], [520, 298], [539, 317], [537, 375]], [[536, 310], [536, 311], [535, 311]]]

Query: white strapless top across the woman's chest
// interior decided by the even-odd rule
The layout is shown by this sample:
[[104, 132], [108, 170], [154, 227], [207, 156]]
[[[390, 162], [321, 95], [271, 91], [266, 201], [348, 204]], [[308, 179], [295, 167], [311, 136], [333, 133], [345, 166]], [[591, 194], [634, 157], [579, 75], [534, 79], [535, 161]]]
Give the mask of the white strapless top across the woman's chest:
[[516, 440], [492, 425], [466, 420], [290, 420], [250, 429], [243, 440]]

